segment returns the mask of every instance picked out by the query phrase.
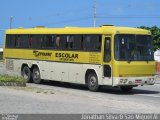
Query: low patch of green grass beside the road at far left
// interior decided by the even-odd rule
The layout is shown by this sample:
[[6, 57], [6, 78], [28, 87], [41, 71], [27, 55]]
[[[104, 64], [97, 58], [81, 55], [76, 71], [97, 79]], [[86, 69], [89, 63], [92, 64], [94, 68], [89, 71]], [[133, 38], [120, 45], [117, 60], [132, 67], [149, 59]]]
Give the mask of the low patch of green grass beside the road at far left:
[[26, 80], [22, 77], [0, 75], [0, 82], [26, 82]]

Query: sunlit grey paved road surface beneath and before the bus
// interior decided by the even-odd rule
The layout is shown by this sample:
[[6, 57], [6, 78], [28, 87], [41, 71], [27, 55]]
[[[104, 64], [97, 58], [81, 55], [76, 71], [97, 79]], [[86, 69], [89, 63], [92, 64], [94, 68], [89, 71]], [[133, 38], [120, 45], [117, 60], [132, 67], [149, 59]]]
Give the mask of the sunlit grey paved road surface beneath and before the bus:
[[59, 82], [28, 84], [32, 90], [0, 87], [0, 113], [160, 113], [160, 84], [124, 94]]

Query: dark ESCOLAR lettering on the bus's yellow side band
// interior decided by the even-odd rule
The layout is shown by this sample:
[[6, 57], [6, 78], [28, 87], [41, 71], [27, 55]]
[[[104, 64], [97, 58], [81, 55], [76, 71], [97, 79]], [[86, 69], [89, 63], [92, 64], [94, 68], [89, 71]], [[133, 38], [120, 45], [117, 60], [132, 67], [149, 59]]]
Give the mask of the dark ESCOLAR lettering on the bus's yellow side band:
[[78, 59], [78, 54], [70, 54], [70, 53], [55, 53], [55, 56], [60, 58], [63, 61], [74, 61], [74, 59]]

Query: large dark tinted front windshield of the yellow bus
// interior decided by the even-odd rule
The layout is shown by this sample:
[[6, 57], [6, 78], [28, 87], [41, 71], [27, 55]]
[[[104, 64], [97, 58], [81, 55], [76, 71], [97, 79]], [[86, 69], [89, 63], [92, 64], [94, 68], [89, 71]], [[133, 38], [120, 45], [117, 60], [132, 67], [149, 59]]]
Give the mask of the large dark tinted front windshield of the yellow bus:
[[150, 35], [115, 35], [115, 59], [118, 61], [153, 61]]

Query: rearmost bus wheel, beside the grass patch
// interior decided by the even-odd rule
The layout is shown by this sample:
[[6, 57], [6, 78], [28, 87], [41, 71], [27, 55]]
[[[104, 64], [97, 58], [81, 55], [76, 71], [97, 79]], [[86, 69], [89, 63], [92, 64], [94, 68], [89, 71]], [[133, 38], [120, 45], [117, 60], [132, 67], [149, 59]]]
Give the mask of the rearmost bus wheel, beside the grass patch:
[[26, 82], [32, 82], [31, 71], [28, 66], [24, 66], [22, 68], [21, 75], [26, 80]]

